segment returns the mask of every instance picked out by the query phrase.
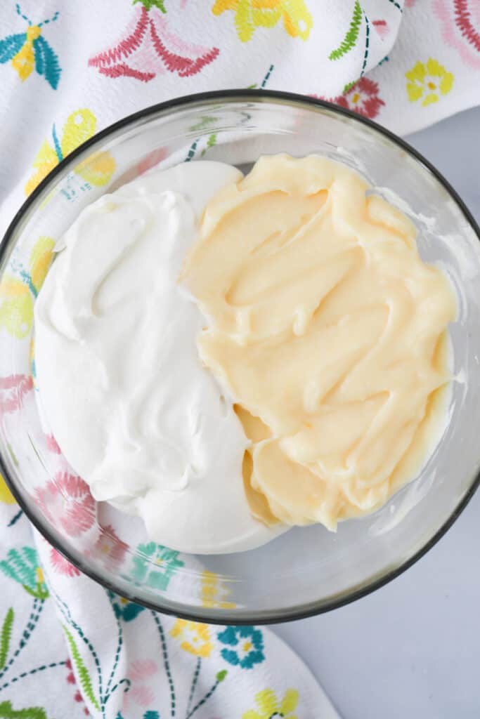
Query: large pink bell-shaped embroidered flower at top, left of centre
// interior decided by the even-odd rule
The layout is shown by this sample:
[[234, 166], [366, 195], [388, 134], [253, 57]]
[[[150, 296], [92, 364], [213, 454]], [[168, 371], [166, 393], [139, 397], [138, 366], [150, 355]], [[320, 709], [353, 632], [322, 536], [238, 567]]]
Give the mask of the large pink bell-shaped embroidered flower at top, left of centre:
[[168, 19], [154, 6], [135, 5], [127, 35], [90, 58], [89, 65], [109, 78], [149, 82], [166, 70], [185, 78], [199, 73], [219, 55], [218, 47], [191, 45], [168, 29]]

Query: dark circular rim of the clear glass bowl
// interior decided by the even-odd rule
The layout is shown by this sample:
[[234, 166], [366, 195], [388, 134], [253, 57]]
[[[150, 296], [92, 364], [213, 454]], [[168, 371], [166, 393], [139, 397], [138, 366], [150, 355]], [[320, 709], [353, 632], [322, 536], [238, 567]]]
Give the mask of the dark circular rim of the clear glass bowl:
[[[51, 170], [50, 173], [46, 175], [46, 177], [37, 186], [37, 188], [35, 188], [35, 190], [27, 198], [27, 200], [22, 203], [22, 206], [14, 215], [14, 218], [7, 227], [4, 237], [1, 241], [0, 263], [4, 260], [6, 253], [10, 249], [10, 243], [12, 241], [14, 232], [17, 229], [17, 226], [22, 223], [22, 219], [24, 218], [24, 215], [27, 213], [30, 207], [35, 205], [35, 203], [37, 202], [37, 198], [39, 198], [42, 195], [43, 191], [45, 191], [45, 189], [50, 186], [50, 183], [55, 180], [57, 175], [63, 173], [63, 171], [68, 168], [74, 160], [76, 160], [76, 157], [85, 152], [85, 150], [88, 150], [90, 147], [94, 147], [97, 143], [106, 139], [110, 135], [115, 134], [119, 130], [128, 129], [130, 125], [135, 124], [135, 122], [137, 122], [138, 120], [148, 119], [151, 116], [155, 116], [158, 114], [165, 115], [168, 114], [169, 111], [182, 109], [185, 106], [193, 107], [208, 101], [258, 102], [262, 100], [274, 102], [277, 101], [280, 106], [281, 104], [287, 103], [290, 106], [309, 106], [311, 108], [327, 109], [334, 114], [348, 117], [348, 119], [353, 120], [353, 122], [358, 122], [359, 124], [366, 125], [368, 129], [371, 129], [382, 137], [389, 139], [391, 142], [394, 143], [394, 145], [397, 145], [397, 147], [399, 147], [401, 150], [404, 150], [404, 152], [407, 152], [408, 155], [417, 160], [420, 165], [423, 165], [423, 167], [434, 176], [438, 183], [440, 183], [440, 186], [443, 186], [450, 198], [454, 201], [454, 203], [456, 203], [456, 206], [458, 206], [458, 209], [461, 211], [464, 218], [471, 226], [471, 229], [473, 230], [474, 234], [476, 234], [476, 237], [477, 239], [479, 239], [480, 242], [479, 224], [477, 224], [476, 220], [474, 219], [474, 216], [468, 210], [468, 207], [458, 195], [457, 191], [450, 185], [448, 180], [445, 179], [443, 174], [440, 173], [440, 171], [437, 170], [437, 168], [435, 168], [435, 166], [432, 165], [431, 162], [429, 162], [429, 160], [427, 160], [420, 152], [415, 150], [415, 147], [412, 147], [412, 145], [409, 145], [409, 143], [406, 142], [404, 139], [397, 136], [397, 134], [394, 134], [394, 132], [391, 132], [389, 129], [382, 127], [376, 122], [373, 122], [373, 120], [369, 119], [366, 116], [357, 114], [350, 109], [335, 105], [323, 99], [314, 98], [312, 96], [301, 95], [299, 93], [264, 89], [231, 89], [193, 93], [188, 96], [181, 96], [161, 103], [150, 105], [145, 109], [132, 113], [118, 120], [117, 122], [114, 122], [105, 129], [101, 130], [101, 132], [94, 134], [94, 136], [86, 140], [86, 142], [83, 142], [81, 145], [79, 145], [76, 150], [73, 150], [73, 152], [71, 152], [67, 157], [61, 160], [59, 164], [56, 165], [55, 168], [53, 168], [53, 170]], [[173, 601], [168, 602], [166, 605], [163, 605], [161, 599], [158, 601], [158, 603], [153, 603], [148, 600], [142, 599], [142, 597], [137, 597], [135, 591], [126, 592], [124, 588], [120, 590], [119, 587], [116, 587], [113, 582], [110, 582], [109, 580], [106, 580], [104, 577], [102, 577], [101, 574], [96, 571], [96, 569], [91, 569], [90, 567], [83, 566], [83, 562], [80, 562], [78, 559], [73, 557], [68, 551], [68, 549], [65, 550], [61, 543], [57, 541], [57, 539], [55, 539], [55, 536], [50, 533], [50, 530], [46, 526], [46, 523], [44, 525], [42, 520], [40, 520], [40, 518], [37, 518], [35, 514], [30, 511], [30, 508], [27, 505], [27, 501], [22, 498], [22, 495], [20, 494], [19, 490], [17, 490], [15, 482], [12, 480], [1, 450], [0, 470], [4, 477], [4, 480], [6, 481], [6, 485], [11, 490], [15, 500], [17, 500], [19, 507], [24, 511], [25, 515], [32, 523], [32, 525], [37, 529], [37, 531], [39, 531], [40, 534], [45, 537], [45, 539], [51, 546], [60, 551], [60, 554], [62, 554], [65, 559], [68, 559], [68, 561], [71, 562], [73, 566], [77, 567], [83, 574], [86, 574], [87, 577], [94, 580], [99, 585], [107, 588], [108, 590], [111, 590], [116, 594], [122, 594], [122, 596], [126, 597], [128, 600], [138, 603], [155, 612], [162, 612], [168, 615], [173, 615], [196, 622], [203, 621], [206, 623], [219, 625], [225, 625], [226, 623], [230, 623], [238, 626], [250, 624], [275, 624], [279, 622], [305, 619], [343, 607], [347, 604], [350, 604], [351, 602], [365, 597], [366, 595], [380, 589], [381, 587], [384, 587], [384, 585], [399, 577], [400, 574], [403, 574], [403, 572], [409, 569], [409, 567], [412, 567], [412, 565], [418, 562], [418, 560], [421, 559], [427, 553], [427, 551], [430, 551], [430, 549], [432, 549], [432, 547], [437, 544], [437, 542], [453, 525], [456, 519], [458, 519], [458, 517], [461, 515], [463, 510], [466, 508], [466, 505], [468, 505], [468, 502], [471, 500], [480, 485], [479, 470], [479, 472], [476, 472], [476, 475], [474, 475], [471, 481], [471, 485], [468, 487], [461, 500], [458, 502], [456, 507], [453, 508], [453, 511], [450, 516], [443, 523], [443, 525], [438, 528], [438, 530], [433, 534], [433, 536], [431, 536], [430, 539], [428, 539], [425, 544], [420, 547], [420, 549], [418, 549], [414, 554], [412, 554], [411, 557], [405, 559], [404, 562], [397, 564], [391, 569], [387, 569], [386, 571], [381, 572], [380, 575], [379, 573], [377, 573], [373, 575], [373, 577], [368, 577], [366, 580], [363, 580], [363, 582], [356, 585], [355, 587], [352, 587], [348, 590], [343, 590], [343, 592], [339, 592], [338, 594], [327, 597], [327, 599], [325, 600], [317, 600], [287, 609], [257, 611], [240, 610], [240, 612], [238, 610], [221, 610], [220, 613], [217, 611], [217, 614], [210, 614], [210, 611], [212, 611], [212, 609], [210, 608], [205, 610], [205, 608], [201, 607], [192, 607], [184, 610], [183, 605], [178, 605], [178, 608], [174, 608], [173, 605], [176, 604], [176, 602]]]

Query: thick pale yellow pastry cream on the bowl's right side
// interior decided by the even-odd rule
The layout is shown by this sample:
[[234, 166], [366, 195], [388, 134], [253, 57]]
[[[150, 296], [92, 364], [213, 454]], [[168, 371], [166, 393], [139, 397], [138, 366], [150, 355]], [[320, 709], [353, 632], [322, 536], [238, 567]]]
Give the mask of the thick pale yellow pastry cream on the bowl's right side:
[[181, 282], [209, 318], [199, 353], [237, 402], [266, 524], [379, 508], [445, 418], [456, 301], [415, 226], [345, 165], [262, 157], [204, 211]]

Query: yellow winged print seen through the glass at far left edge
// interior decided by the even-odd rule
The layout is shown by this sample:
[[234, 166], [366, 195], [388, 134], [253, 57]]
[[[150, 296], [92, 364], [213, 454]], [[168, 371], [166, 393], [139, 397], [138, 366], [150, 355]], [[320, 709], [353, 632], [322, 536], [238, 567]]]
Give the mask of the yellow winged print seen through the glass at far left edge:
[[0, 283], [0, 326], [17, 339], [32, 329], [34, 298], [53, 260], [55, 241], [40, 237], [30, 254], [29, 270], [19, 266], [19, 278], [6, 275]]

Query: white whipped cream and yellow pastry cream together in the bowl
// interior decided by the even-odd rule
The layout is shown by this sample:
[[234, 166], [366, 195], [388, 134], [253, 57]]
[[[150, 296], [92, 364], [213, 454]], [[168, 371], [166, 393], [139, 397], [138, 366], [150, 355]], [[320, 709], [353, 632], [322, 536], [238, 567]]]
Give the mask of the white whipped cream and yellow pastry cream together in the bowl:
[[153, 171], [83, 211], [35, 304], [66, 459], [173, 549], [253, 549], [376, 510], [445, 422], [456, 299], [353, 170]]

